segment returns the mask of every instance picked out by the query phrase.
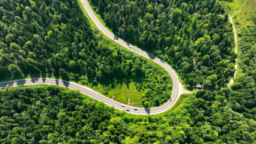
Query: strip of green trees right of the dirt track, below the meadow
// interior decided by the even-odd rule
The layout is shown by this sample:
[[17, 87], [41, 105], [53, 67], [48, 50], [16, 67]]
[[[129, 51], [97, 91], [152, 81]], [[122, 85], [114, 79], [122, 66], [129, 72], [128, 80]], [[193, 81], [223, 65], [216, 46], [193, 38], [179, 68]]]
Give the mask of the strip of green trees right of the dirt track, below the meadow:
[[[256, 25], [256, 22], [255, 22]], [[232, 98], [237, 112], [248, 118], [256, 119], [256, 26], [245, 26], [240, 29], [239, 40], [239, 68], [231, 89], [234, 90]]]

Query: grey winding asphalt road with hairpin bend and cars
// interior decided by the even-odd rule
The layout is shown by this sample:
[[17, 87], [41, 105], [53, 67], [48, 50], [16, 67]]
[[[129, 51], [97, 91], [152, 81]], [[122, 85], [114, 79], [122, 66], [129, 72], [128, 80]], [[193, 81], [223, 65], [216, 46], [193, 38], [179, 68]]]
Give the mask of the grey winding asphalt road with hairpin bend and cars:
[[[9, 82], [2, 82], [0, 83], [0, 88], [7, 88], [8, 86], [19, 86], [19, 85], [34, 85], [34, 84], [48, 84], [48, 85], [58, 85], [58, 86], [63, 86], [65, 88], [70, 88], [70, 89], [76, 89], [78, 91], [81, 91], [82, 94], [88, 95], [92, 98], [95, 98], [96, 100], [102, 101], [103, 103], [107, 104], [108, 106], [113, 106], [115, 109], [119, 110], [127, 110], [129, 109], [129, 113], [133, 113], [136, 115], [154, 115], [157, 113], [162, 113], [165, 112], [166, 110], [170, 109], [176, 101], [178, 100], [178, 97], [180, 97], [181, 94], [183, 93], [190, 93], [187, 92], [181, 83], [178, 80], [178, 76], [175, 73], [172, 68], [166, 64], [164, 61], [161, 59], [157, 58], [156, 56], [151, 55], [150, 53], [147, 53], [141, 49], [138, 49], [135, 46], [128, 45], [125, 41], [121, 40], [118, 37], [115, 37], [114, 34], [112, 34], [108, 29], [105, 28], [105, 26], [100, 23], [100, 21], [97, 19], [97, 17], [94, 15], [93, 11], [89, 7], [87, 1], [81, 0], [82, 3], [84, 4], [85, 10], [87, 10], [87, 13], [93, 20], [93, 22], [97, 25], [97, 27], [102, 31], [106, 36], [109, 38], [115, 38], [115, 42], [118, 44], [121, 44], [122, 46], [126, 47], [127, 49], [132, 50], [133, 52], [138, 53], [139, 55], [144, 56], [145, 58], [151, 59], [152, 61], [156, 62], [163, 68], [165, 68], [166, 71], [171, 75], [172, 77], [172, 83], [173, 83], [173, 89], [172, 89], [172, 96], [171, 98], [162, 106], [159, 107], [154, 107], [150, 109], [144, 109], [144, 108], [138, 108], [138, 107], [131, 107], [128, 105], [124, 105], [124, 107], [121, 106], [121, 103], [118, 103], [117, 101], [114, 101], [108, 97], [105, 97], [102, 94], [99, 94], [99, 92], [93, 91], [90, 88], [87, 88], [86, 86], [78, 85], [73, 82], [67, 82], [65, 80], [58, 80], [58, 79], [50, 79], [50, 78], [38, 78], [38, 79], [22, 79], [22, 80], [13, 80]], [[134, 110], [134, 109], [137, 110]]]

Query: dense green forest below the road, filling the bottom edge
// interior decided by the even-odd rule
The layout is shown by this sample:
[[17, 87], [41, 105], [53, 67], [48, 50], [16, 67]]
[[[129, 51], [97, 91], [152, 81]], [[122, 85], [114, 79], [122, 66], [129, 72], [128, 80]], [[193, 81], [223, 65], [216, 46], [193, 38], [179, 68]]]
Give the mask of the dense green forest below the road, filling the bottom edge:
[[0, 90], [0, 143], [252, 143], [256, 122], [231, 109], [231, 93], [183, 95], [176, 109], [139, 116], [59, 86], [10, 87]]

